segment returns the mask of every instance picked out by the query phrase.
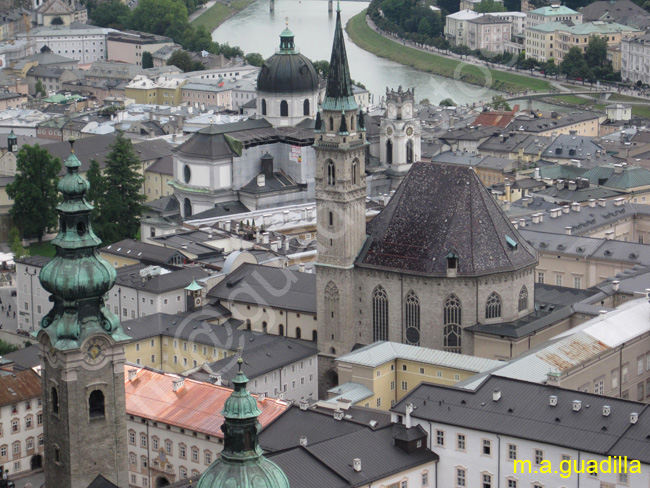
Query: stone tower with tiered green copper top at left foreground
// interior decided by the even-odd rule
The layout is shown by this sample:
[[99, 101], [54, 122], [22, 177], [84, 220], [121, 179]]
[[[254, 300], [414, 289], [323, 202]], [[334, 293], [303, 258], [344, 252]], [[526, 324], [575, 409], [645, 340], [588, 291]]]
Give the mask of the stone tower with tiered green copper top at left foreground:
[[104, 305], [115, 269], [99, 256], [90, 188], [71, 150], [59, 181], [55, 257], [39, 279], [53, 307], [38, 332], [43, 383], [45, 483], [86, 488], [99, 474], [127, 487], [124, 334]]

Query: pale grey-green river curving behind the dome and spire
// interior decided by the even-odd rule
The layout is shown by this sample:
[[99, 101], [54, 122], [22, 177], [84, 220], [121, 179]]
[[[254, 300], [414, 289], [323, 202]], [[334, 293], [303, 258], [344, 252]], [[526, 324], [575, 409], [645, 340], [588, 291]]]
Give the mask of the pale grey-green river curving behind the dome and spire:
[[[368, 6], [368, 2], [342, 2], [343, 25]], [[269, 12], [269, 0], [257, 0], [221, 24], [212, 38], [240, 46], [244, 52], [271, 56], [280, 44], [280, 32], [289, 18], [289, 28], [296, 35], [296, 46], [312, 61], [329, 61], [336, 15], [327, 12], [323, 0], [275, 0], [275, 12]], [[438, 103], [452, 98], [465, 104], [491, 98], [497, 92], [429, 73], [375, 56], [357, 47], [346, 35], [350, 74], [363, 83], [374, 96], [374, 103], [386, 93], [386, 87], [415, 87], [416, 101], [428, 98]]]

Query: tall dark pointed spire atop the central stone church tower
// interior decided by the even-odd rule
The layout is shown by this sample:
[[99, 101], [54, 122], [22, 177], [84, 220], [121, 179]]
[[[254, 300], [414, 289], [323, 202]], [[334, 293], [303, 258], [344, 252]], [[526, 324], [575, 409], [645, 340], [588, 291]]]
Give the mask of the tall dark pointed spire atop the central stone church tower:
[[337, 3], [336, 29], [334, 30], [334, 43], [332, 45], [332, 57], [330, 58], [330, 71], [327, 77], [323, 110], [354, 110], [356, 108], [357, 102], [352, 93], [350, 68], [341, 25], [341, 6]]

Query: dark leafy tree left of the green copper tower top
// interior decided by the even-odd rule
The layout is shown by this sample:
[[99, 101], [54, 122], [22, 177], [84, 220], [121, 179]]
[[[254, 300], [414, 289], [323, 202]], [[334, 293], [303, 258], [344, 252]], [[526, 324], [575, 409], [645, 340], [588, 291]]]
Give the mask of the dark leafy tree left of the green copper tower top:
[[16, 178], [7, 185], [7, 195], [14, 201], [9, 215], [23, 236], [36, 236], [39, 244], [57, 223], [59, 171], [61, 161], [47, 149], [24, 145], [16, 158]]

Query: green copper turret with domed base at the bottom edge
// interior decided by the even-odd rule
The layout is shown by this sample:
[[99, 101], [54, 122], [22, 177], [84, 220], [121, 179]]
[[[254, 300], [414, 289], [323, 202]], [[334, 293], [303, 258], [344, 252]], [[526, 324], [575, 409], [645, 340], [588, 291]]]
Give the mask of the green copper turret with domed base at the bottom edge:
[[258, 442], [262, 412], [241, 370], [233, 380], [235, 390], [224, 405], [221, 426], [224, 442], [221, 456], [203, 473], [196, 488], [289, 488], [289, 480], [273, 461], [266, 459]]

